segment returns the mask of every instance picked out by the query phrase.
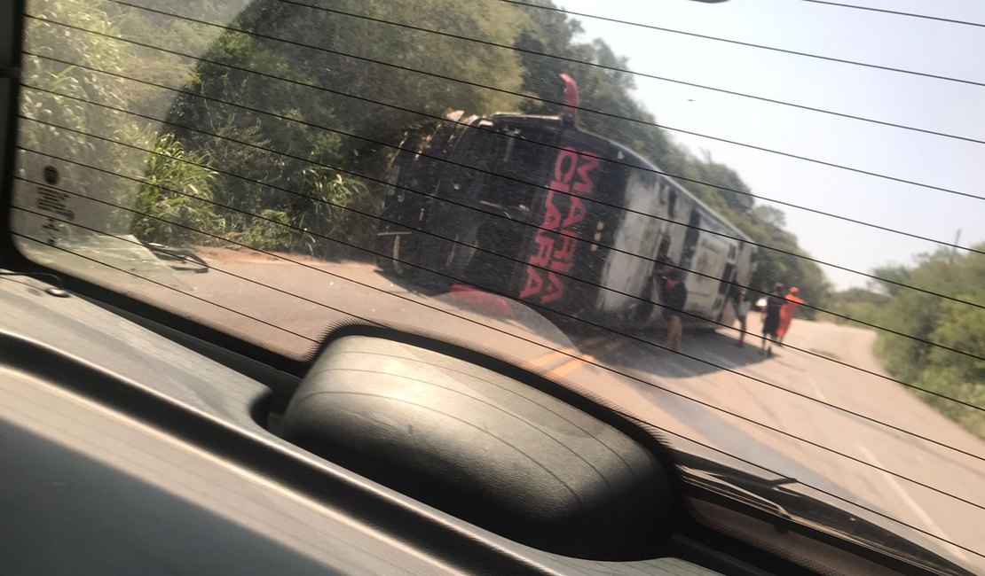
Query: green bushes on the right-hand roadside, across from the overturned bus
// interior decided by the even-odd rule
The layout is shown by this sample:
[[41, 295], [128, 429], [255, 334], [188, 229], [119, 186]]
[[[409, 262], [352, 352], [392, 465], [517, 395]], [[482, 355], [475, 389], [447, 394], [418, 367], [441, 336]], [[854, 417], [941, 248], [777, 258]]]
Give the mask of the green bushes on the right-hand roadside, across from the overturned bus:
[[[985, 245], [975, 247], [985, 250]], [[913, 267], [886, 266], [875, 275], [966, 302], [985, 303], [985, 256], [949, 250], [925, 255]], [[876, 354], [889, 374], [921, 388], [985, 406], [985, 361], [932, 346], [935, 342], [977, 357], [985, 356], [985, 310], [904, 288], [875, 282], [832, 297], [832, 310], [913, 338], [880, 332]], [[846, 320], [841, 320], [846, 321]], [[985, 418], [933, 394], [915, 392], [971, 432], [985, 437]]]

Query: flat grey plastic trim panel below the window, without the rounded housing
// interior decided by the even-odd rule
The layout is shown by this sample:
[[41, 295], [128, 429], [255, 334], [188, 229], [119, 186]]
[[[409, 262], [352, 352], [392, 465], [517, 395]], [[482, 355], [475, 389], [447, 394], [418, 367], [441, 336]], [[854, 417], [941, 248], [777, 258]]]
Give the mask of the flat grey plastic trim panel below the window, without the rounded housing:
[[0, 280], [0, 573], [713, 574], [526, 547], [268, 432], [261, 382]]

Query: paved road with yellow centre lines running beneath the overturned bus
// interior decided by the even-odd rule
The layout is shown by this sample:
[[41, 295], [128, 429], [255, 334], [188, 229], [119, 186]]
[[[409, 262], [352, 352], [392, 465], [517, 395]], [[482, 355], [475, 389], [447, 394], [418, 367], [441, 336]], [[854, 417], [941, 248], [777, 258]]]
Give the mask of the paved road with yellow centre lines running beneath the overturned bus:
[[[119, 270], [64, 253], [49, 257], [74, 259], [103, 280], [296, 356], [331, 326], [353, 319], [464, 338], [619, 404], [673, 443], [693, 447], [689, 438], [985, 551], [985, 442], [881, 377], [870, 330], [795, 320], [789, 347], [766, 357], [755, 346], [735, 346], [734, 334], [723, 328], [689, 335], [682, 356], [611, 334], [569, 339], [524, 307], [428, 296], [365, 263], [203, 249], [213, 269], [176, 272], [160, 260], [134, 263], [133, 255], [122, 254], [132, 249], [114, 244], [118, 258], [108, 248], [99, 252], [97, 259], [118, 262]], [[983, 556], [881, 522], [975, 571], [985, 566]]]

